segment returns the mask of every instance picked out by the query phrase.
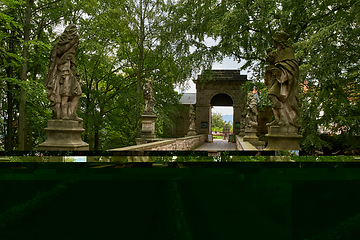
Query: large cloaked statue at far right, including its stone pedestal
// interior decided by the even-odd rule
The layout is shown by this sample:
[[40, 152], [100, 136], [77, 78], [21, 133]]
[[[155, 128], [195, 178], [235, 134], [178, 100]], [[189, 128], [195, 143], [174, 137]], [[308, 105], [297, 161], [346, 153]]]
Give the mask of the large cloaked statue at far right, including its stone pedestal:
[[268, 145], [265, 150], [299, 150], [299, 65], [286, 32], [275, 32], [274, 47], [267, 49], [265, 84], [272, 102], [275, 120], [268, 123]]

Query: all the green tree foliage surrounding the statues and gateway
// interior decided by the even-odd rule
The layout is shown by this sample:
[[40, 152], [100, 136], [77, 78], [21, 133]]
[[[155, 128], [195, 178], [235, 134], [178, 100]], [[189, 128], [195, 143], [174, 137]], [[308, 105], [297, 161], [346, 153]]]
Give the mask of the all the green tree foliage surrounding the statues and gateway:
[[[30, 1], [32, 2], [32, 1]], [[142, 86], [154, 78], [157, 136], [178, 113], [175, 85], [211, 69], [216, 60], [245, 60], [258, 92], [259, 110], [269, 106], [263, 83], [266, 49], [275, 31], [291, 35], [300, 65], [301, 147], [312, 152], [330, 144], [319, 126], [337, 132], [343, 149], [359, 149], [360, 4], [349, 1], [86, 0], [33, 1], [27, 81], [21, 81], [25, 1], [0, 3], [0, 136], [4, 149], [17, 148], [20, 89], [26, 90], [28, 148], [44, 141], [50, 118], [46, 89], [50, 50], [62, 27], [75, 23], [83, 98], [79, 116], [90, 149], [135, 144], [144, 107]], [[216, 40], [208, 47], [205, 40]], [[304, 88], [306, 87], [306, 89]], [[214, 119], [214, 117], [213, 117]], [[213, 129], [223, 122], [214, 120]], [[218, 121], [218, 122], [216, 122]], [[11, 131], [11, 132], [9, 132]], [[11, 144], [9, 144], [11, 143]], [[11, 145], [11, 146], [10, 146]]]

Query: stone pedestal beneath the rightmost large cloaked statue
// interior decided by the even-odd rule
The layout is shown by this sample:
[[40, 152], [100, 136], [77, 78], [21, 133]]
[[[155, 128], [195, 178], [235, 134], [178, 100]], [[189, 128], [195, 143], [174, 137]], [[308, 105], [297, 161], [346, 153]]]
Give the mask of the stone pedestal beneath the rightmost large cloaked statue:
[[268, 125], [268, 134], [265, 136], [268, 138], [265, 150], [301, 150], [299, 141], [302, 135], [298, 134], [298, 128], [294, 126]]

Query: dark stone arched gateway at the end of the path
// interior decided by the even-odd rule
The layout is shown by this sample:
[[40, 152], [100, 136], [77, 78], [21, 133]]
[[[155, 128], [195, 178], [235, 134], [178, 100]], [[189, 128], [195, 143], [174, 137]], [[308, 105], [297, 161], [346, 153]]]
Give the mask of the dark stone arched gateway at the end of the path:
[[196, 132], [208, 134], [211, 132], [211, 107], [232, 106], [234, 134], [239, 134], [241, 110], [244, 104], [244, 93], [240, 87], [247, 80], [246, 75], [240, 75], [239, 70], [212, 70], [213, 77], [207, 79], [199, 75], [196, 84]]

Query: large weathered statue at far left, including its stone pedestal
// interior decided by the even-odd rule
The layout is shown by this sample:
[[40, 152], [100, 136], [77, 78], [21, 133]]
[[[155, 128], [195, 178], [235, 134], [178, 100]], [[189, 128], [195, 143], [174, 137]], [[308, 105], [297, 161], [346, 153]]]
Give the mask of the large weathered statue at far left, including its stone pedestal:
[[45, 128], [47, 139], [39, 144], [38, 150], [89, 150], [89, 144], [81, 139], [84, 132], [82, 119], [76, 114], [82, 94], [75, 64], [78, 45], [76, 26], [70, 24], [51, 51], [44, 84], [49, 90], [47, 97], [53, 115]]

